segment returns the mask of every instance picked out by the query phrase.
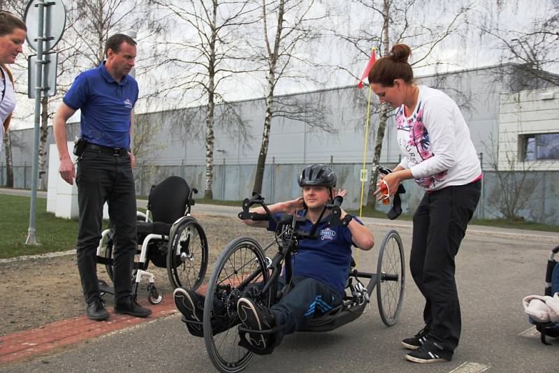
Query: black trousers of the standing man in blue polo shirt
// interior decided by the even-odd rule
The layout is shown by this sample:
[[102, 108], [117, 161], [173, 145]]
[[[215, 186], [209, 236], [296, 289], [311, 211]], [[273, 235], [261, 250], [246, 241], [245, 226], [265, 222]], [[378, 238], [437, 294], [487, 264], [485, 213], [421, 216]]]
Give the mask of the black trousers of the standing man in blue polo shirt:
[[78, 270], [87, 303], [100, 299], [96, 249], [101, 239], [103, 204], [108, 203], [114, 228], [113, 258], [115, 303], [132, 293], [136, 254], [136, 187], [128, 155], [85, 149], [75, 177], [78, 186]]

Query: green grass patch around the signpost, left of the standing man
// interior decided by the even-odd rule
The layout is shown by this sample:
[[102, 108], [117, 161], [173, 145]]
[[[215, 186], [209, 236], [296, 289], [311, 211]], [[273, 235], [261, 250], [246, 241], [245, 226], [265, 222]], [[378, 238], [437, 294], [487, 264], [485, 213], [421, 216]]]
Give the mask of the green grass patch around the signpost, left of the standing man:
[[47, 200], [37, 198], [35, 237], [38, 246], [25, 245], [29, 228], [30, 198], [0, 194], [2, 206], [0, 258], [66, 251], [75, 247], [78, 221], [47, 212]]

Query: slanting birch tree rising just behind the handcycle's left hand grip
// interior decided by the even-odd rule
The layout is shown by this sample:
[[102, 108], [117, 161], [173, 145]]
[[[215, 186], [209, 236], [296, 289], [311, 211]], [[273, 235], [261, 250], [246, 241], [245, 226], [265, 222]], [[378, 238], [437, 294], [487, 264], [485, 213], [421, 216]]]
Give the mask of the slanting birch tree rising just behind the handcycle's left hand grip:
[[258, 192], [262, 189], [274, 117], [286, 117], [314, 128], [335, 132], [327, 120], [329, 110], [322, 102], [300, 103], [296, 97], [275, 94], [279, 80], [311, 80], [308, 73], [298, 73], [292, 65], [298, 62], [307, 68], [317, 67], [310, 57], [305, 56], [301, 47], [321, 36], [319, 25], [326, 18], [326, 11], [316, 6], [314, 0], [261, 0], [260, 4], [263, 47], [259, 48], [257, 54], [263, 61], [263, 71], [266, 73], [266, 111], [253, 187]]

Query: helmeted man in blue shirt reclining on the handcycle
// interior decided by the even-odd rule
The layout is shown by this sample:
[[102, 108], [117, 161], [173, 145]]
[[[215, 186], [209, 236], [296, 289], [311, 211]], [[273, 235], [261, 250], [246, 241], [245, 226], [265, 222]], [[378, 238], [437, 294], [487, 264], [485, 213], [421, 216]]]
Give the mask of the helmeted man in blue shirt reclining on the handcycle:
[[[310, 231], [326, 204], [333, 202], [336, 182], [337, 177], [331, 168], [322, 164], [312, 164], [307, 166], [298, 178], [303, 196], [275, 203], [268, 206], [268, 209], [276, 217], [294, 213], [305, 217], [307, 220], [299, 229]], [[345, 193], [345, 190], [340, 190], [337, 194], [344, 196]], [[252, 212], [262, 214], [266, 211], [263, 207], [258, 207]], [[369, 250], [375, 244], [372, 233], [356, 217], [351, 216], [347, 226], [330, 226], [329, 214], [329, 210], [326, 210], [319, 222], [316, 240], [299, 240], [297, 254], [291, 257], [293, 278], [288, 285], [290, 290], [279, 302], [268, 309], [252, 302], [248, 297], [238, 300], [237, 312], [245, 328], [269, 330], [277, 327], [277, 332], [273, 334], [249, 333], [247, 342], [255, 353], [270, 353], [284, 335], [303, 328], [315, 312], [328, 312], [339, 305], [343, 300], [351, 265], [351, 246]], [[341, 210], [340, 219], [347, 220], [346, 215], [347, 213]], [[276, 231], [273, 219], [245, 220], [245, 224]], [[278, 288], [284, 288], [285, 283], [284, 274], [279, 278]], [[184, 318], [187, 321], [195, 321], [187, 323], [189, 332], [202, 336], [203, 296], [184, 288], [177, 288], [174, 295], [177, 309]], [[212, 328], [220, 328], [219, 321], [212, 320]]]

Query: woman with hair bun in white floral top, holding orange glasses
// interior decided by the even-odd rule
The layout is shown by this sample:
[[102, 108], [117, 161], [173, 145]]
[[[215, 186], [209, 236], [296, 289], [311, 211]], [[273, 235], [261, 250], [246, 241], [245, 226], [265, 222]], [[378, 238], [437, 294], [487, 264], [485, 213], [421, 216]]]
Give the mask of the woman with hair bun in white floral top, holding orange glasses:
[[[392, 47], [369, 72], [381, 103], [395, 109], [402, 162], [379, 181], [375, 194], [395, 193], [414, 179], [426, 193], [414, 214], [409, 266], [426, 299], [425, 327], [402, 344], [416, 363], [449, 361], [460, 339], [461, 319], [454, 257], [481, 194], [481, 166], [458, 105], [443, 92], [416, 85], [405, 44]], [[382, 191], [381, 191], [382, 189]]]

